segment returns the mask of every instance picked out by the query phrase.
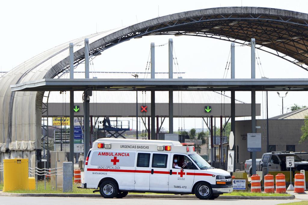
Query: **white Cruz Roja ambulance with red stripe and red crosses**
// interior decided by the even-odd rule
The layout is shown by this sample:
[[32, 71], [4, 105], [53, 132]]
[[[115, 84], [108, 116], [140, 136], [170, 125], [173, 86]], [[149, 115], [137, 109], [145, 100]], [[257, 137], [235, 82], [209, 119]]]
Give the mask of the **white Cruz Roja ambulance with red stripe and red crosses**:
[[193, 193], [199, 199], [216, 199], [232, 192], [229, 172], [211, 167], [192, 145], [167, 140], [96, 140], [87, 155], [80, 188], [99, 189], [95, 191], [104, 198], [122, 198], [133, 191]]

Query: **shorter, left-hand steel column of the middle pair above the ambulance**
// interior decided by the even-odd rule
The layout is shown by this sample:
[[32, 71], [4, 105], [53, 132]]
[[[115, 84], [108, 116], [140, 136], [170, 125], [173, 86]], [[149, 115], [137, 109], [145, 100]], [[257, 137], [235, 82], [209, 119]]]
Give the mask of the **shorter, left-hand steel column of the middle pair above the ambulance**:
[[[155, 78], [155, 44], [151, 43], [151, 78]], [[155, 140], [155, 91], [151, 91], [151, 140]]]

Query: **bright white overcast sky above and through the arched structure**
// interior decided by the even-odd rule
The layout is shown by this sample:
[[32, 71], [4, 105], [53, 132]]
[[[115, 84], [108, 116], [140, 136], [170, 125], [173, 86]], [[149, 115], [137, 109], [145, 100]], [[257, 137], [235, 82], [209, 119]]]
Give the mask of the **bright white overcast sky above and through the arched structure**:
[[[305, 0], [2, 1], [0, 68], [1, 71], [9, 71], [47, 49], [87, 34], [132, 25], [158, 16], [220, 6], [260, 6], [303, 13], [308, 11], [308, 1]], [[223, 77], [231, 43], [204, 37], [149, 36], [133, 39], [104, 51], [95, 58], [94, 68], [96, 71], [142, 72], [148, 60], [150, 43], [161, 45], [167, 43], [169, 38], [173, 38], [179, 70], [185, 72], [183, 77]], [[235, 77], [250, 78], [250, 47], [237, 46], [235, 52]], [[258, 51], [258, 54], [265, 77], [308, 78], [307, 71], [288, 61], [262, 51]], [[167, 46], [156, 47], [156, 71], [168, 71]], [[256, 77], [261, 77], [257, 66]], [[250, 103], [248, 92], [237, 92], [236, 98]], [[256, 102], [262, 103], [262, 92], [257, 92]], [[307, 102], [307, 92], [289, 92], [284, 99], [284, 112], [294, 103], [308, 105]], [[258, 118], [263, 117], [262, 107], [264, 103]], [[281, 112], [281, 98], [276, 92], [269, 92], [269, 116]], [[187, 122], [186, 128], [194, 127], [192, 120], [189, 121], [191, 123]], [[201, 120], [197, 121], [200, 123], [196, 127], [200, 128]]]

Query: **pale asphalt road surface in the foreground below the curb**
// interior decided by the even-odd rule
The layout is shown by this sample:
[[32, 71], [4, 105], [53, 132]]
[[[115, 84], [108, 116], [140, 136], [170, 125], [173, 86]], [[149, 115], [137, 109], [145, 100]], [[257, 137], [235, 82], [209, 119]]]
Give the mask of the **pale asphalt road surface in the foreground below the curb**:
[[77, 197], [18, 197], [18, 196], [0, 196], [0, 204], [5, 205], [85, 205], [85, 204], [116, 204], [116, 205], [128, 205], [128, 204], [176, 204], [176, 205], [187, 205], [187, 204], [223, 204], [223, 205], [234, 205], [234, 204], [249, 204], [249, 205], [260, 205], [266, 204], [279, 204], [287, 202], [296, 202], [301, 200], [233, 200], [233, 199], [215, 199], [215, 200], [200, 200], [200, 199], [141, 199], [141, 198], [123, 198], [123, 199], [104, 199], [104, 198], [77, 198]]

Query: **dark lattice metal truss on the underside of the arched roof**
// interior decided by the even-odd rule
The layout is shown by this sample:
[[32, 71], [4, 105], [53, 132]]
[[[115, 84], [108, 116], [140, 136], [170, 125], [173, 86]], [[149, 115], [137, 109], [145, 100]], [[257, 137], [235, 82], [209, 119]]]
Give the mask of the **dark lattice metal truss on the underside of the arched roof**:
[[[202, 31], [203, 30], [203, 31]], [[308, 71], [308, 23], [295, 18], [258, 14], [208, 15], [178, 19], [126, 34], [93, 49], [89, 54], [96, 57], [104, 50], [132, 38], [148, 35], [187, 35], [208, 37], [242, 45], [256, 39], [256, 48], [283, 58]], [[84, 57], [74, 62], [83, 63]], [[65, 67], [55, 76], [69, 71]]]

